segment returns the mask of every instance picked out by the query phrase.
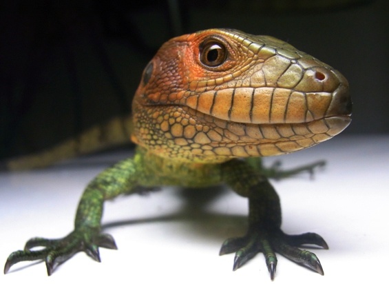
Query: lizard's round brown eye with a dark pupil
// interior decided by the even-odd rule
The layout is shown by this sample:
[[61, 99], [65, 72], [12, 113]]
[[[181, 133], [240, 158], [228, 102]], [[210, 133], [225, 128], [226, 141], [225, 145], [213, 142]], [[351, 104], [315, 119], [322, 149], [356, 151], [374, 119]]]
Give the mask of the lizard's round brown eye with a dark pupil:
[[208, 67], [216, 67], [227, 59], [227, 48], [219, 41], [204, 41], [200, 45], [200, 61]]

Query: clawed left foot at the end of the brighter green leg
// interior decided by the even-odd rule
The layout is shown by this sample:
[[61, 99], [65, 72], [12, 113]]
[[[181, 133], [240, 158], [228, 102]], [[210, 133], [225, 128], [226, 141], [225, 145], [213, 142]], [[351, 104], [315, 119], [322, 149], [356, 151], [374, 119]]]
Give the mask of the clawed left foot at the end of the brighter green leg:
[[[44, 247], [41, 250], [31, 250], [34, 247]], [[45, 260], [48, 275], [58, 265], [61, 265], [77, 252], [85, 252], [95, 261], [100, 262], [98, 247], [116, 250], [114, 239], [109, 234], [101, 234], [95, 229], [75, 230], [63, 239], [33, 238], [25, 243], [24, 250], [17, 250], [8, 256], [4, 265], [6, 274], [12, 265], [21, 261]]]

